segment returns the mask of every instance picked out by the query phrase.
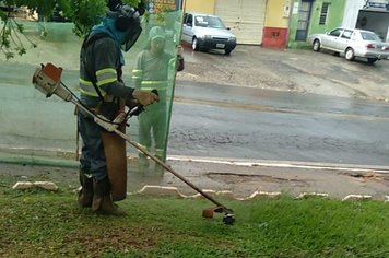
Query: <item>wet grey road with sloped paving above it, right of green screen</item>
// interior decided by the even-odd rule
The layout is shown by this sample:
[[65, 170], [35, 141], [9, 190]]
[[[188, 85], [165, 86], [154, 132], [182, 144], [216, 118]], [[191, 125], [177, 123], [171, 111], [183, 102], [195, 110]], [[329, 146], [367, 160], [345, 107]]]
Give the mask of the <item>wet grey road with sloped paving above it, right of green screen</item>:
[[[328, 52], [252, 46], [241, 46], [232, 56], [185, 49], [187, 61], [204, 67], [211, 63], [210, 68], [226, 73], [234, 72], [231, 67], [258, 67], [261, 81], [263, 72], [271, 71], [279, 75], [273, 81], [279, 86], [276, 91], [263, 89], [260, 82], [247, 86], [245, 81], [222, 85], [223, 77], [217, 81], [216, 72], [215, 82], [178, 80], [170, 154], [388, 165], [389, 105], [385, 99], [389, 95], [381, 91], [389, 87], [381, 80], [389, 69], [388, 60], [372, 66]], [[298, 64], [292, 66], [295, 60]], [[309, 84], [311, 81], [316, 83]], [[284, 87], [291, 84], [294, 89]]]

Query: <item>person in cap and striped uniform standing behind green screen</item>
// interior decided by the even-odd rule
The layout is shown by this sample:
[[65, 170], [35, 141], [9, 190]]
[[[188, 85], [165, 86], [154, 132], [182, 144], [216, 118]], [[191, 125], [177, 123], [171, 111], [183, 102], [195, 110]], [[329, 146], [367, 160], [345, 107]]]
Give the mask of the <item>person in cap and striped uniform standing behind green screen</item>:
[[[139, 143], [151, 151], [154, 140], [155, 156], [162, 161], [166, 160], [168, 72], [176, 70], [176, 57], [164, 50], [165, 39], [166, 34], [162, 27], [152, 27], [149, 32], [148, 47], [138, 55], [132, 71], [137, 89], [158, 91], [160, 102], [145, 107], [145, 112], [139, 115]], [[177, 70], [182, 69], [184, 63], [182, 68], [177, 68]], [[149, 166], [149, 161], [143, 153], [140, 153], [140, 162], [143, 167]]]

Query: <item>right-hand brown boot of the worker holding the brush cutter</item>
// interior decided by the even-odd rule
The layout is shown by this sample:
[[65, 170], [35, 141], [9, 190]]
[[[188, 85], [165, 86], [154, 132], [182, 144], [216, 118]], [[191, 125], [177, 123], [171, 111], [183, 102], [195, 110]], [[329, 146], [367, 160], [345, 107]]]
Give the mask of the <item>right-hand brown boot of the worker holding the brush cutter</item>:
[[93, 190], [92, 211], [104, 215], [126, 214], [125, 212], [119, 211], [118, 207], [113, 201], [108, 177], [105, 177], [101, 181], [93, 180]]

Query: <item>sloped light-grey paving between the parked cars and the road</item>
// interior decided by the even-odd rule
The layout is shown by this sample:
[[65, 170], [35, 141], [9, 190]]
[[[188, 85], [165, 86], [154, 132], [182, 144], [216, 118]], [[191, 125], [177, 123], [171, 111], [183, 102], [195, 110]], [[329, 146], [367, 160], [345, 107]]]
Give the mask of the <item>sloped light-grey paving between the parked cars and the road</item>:
[[329, 96], [389, 99], [389, 60], [368, 64], [329, 52], [238, 46], [231, 55], [193, 52], [185, 47], [187, 69], [178, 80], [231, 84]]

